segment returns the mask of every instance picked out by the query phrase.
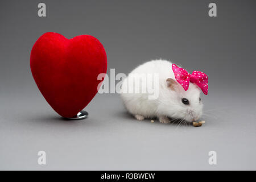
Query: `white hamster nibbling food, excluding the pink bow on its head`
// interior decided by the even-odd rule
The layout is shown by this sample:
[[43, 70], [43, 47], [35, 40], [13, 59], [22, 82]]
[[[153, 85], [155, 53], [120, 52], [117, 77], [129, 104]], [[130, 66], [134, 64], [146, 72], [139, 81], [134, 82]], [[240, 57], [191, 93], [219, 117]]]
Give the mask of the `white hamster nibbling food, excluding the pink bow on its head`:
[[[136, 74], [137, 73], [137, 74]], [[152, 79], [143, 79], [141, 75], [158, 75], [158, 84]], [[139, 84], [135, 84], [137, 81]], [[153, 86], [152, 86], [153, 85]], [[158, 97], [149, 99], [148, 90], [158, 86]], [[139, 90], [139, 93], [128, 91]], [[146, 90], [146, 92], [142, 92]], [[187, 91], [175, 80], [172, 63], [166, 60], [152, 60], [135, 68], [122, 82], [121, 98], [129, 113], [138, 120], [157, 117], [160, 122], [168, 123], [171, 119], [196, 121], [202, 115], [203, 103], [200, 88], [189, 83]]]

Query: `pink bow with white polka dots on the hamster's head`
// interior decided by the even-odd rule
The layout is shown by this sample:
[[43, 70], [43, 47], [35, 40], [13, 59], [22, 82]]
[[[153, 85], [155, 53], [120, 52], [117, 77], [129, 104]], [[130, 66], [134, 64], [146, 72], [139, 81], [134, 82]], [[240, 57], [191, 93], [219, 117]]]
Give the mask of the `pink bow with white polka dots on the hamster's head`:
[[205, 95], [208, 94], [208, 77], [205, 73], [199, 71], [193, 71], [189, 74], [185, 69], [177, 67], [177, 65], [172, 64], [172, 71], [174, 71], [174, 76], [184, 90], [188, 90], [189, 81], [195, 83], [201, 88]]

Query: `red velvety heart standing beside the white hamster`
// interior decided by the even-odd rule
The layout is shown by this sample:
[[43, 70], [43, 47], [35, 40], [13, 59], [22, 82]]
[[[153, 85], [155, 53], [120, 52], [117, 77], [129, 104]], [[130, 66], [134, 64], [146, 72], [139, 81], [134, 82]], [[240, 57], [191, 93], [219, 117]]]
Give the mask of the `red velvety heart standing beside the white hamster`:
[[106, 52], [90, 35], [67, 39], [47, 32], [32, 47], [30, 68], [36, 85], [52, 108], [73, 117], [93, 99], [106, 73]]

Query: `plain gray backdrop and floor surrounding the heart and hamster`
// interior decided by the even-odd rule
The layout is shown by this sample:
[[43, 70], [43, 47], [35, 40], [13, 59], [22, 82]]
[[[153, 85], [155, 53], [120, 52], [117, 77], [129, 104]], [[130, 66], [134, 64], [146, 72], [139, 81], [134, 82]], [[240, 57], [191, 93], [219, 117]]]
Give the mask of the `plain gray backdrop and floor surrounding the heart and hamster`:
[[[47, 17], [37, 15], [38, 3]], [[217, 18], [208, 16], [210, 2]], [[255, 1], [1, 1], [0, 169], [256, 169]], [[118, 94], [97, 94], [83, 121], [40, 94], [30, 51], [44, 32], [90, 34], [108, 68], [157, 58], [209, 76], [203, 127], [136, 121]], [[39, 166], [37, 153], [47, 153]], [[217, 165], [208, 152], [217, 152]]]

